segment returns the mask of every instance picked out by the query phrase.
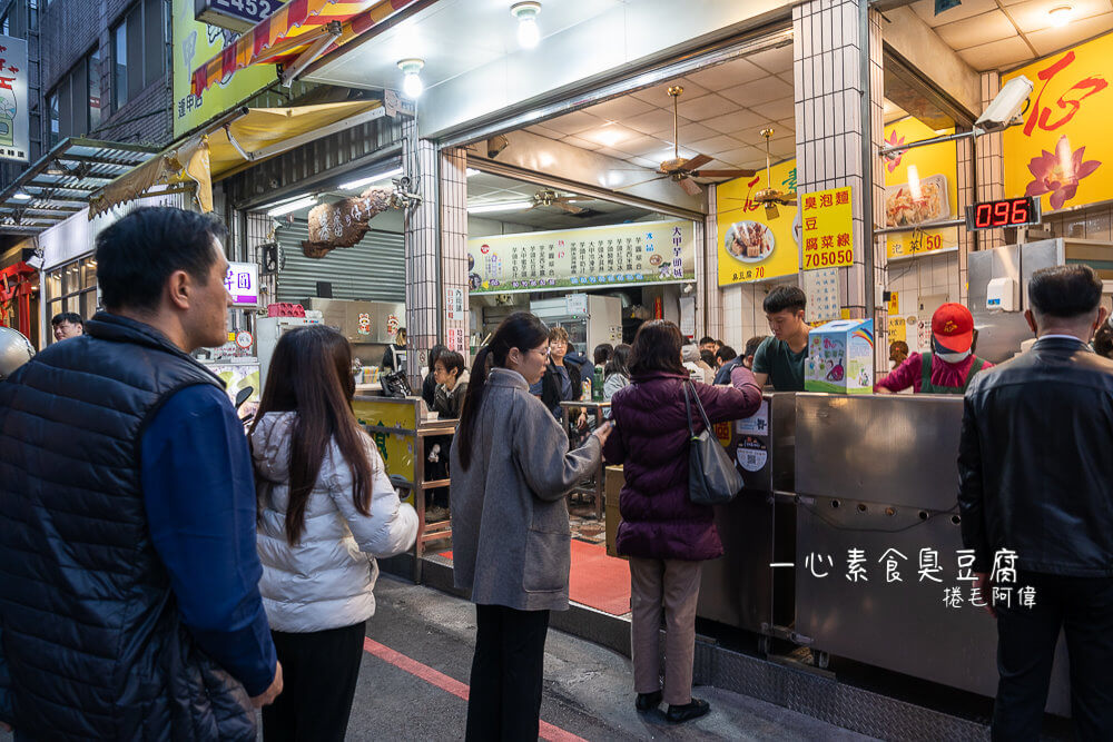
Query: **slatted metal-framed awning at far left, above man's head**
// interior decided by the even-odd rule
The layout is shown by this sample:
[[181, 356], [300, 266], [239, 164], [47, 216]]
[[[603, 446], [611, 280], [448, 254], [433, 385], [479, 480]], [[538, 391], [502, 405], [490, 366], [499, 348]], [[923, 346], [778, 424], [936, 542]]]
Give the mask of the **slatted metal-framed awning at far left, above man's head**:
[[0, 192], [0, 233], [33, 235], [68, 219], [95, 191], [157, 151], [79, 137], [62, 140]]

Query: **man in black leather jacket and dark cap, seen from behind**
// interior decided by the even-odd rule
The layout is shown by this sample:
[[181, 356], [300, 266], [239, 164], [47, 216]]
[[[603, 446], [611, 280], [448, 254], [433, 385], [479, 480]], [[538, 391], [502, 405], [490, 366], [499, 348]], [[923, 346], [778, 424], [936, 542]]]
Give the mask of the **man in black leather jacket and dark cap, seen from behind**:
[[966, 390], [958, 506], [997, 617], [994, 740], [1040, 738], [1061, 630], [1077, 738], [1113, 732], [1113, 360], [1087, 345], [1101, 298], [1090, 266], [1035, 271], [1036, 344]]

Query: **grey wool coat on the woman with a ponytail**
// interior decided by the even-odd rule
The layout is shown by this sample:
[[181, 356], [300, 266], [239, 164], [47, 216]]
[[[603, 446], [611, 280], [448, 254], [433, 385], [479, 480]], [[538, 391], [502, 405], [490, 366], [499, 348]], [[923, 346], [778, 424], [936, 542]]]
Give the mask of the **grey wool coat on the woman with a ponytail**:
[[473, 603], [568, 609], [571, 531], [564, 495], [600, 462], [599, 438], [577, 451], [518, 372], [493, 368], [483, 389], [471, 466], [452, 447], [456, 587]]

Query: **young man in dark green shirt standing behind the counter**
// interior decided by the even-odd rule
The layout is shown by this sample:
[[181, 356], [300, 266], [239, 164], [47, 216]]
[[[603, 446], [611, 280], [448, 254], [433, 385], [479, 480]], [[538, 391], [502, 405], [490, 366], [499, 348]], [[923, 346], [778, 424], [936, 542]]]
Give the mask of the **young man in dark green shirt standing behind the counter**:
[[796, 286], [778, 286], [762, 304], [772, 337], [754, 354], [754, 378], [759, 386], [772, 382], [778, 392], [804, 392], [804, 362], [808, 357], [808, 298]]

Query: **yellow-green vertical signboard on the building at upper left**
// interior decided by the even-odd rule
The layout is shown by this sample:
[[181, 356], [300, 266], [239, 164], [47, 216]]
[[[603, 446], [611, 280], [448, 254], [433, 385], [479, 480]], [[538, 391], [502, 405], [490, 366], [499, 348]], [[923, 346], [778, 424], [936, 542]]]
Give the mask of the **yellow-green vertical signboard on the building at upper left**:
[[220, 53], [239, 36], [194, 20], [194, 0], [174, 0], [174, 136], [196, 129], [220, 113], [243, 103], [277, 79], [274, 65], [239, 70], [205, 91], [190, 92], [189, 76], [203, 62]]

